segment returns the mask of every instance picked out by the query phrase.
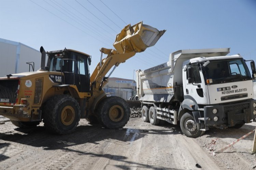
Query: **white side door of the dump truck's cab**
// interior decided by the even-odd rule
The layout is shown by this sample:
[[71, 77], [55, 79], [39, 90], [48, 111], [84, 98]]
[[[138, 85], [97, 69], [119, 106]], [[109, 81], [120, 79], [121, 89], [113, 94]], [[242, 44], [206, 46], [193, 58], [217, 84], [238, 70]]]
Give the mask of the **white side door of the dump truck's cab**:
[[192, 63], [190, 67], [194, 68], [194, 83], [188, 83], [188, 70], [184, 72], [185, 76], [185, 91], [184, 95], [193, 97], [198, 104], [208, 103], [208, 93], [205, 89], [205, 83], [202, 72], [199, 70], [198, 63]]

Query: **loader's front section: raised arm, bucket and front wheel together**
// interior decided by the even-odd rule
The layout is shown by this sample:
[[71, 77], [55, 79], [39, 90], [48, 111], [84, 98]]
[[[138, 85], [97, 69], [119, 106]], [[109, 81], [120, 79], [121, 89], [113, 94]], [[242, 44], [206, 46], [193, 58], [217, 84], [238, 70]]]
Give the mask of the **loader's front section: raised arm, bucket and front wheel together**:
[[[117, 34], [113, 46], [115, 49], [101, 48], [101, 60], [90, 77], [91, 97], [88, 103], [88, 119], [90, 122], [98, 120], [104, 127], [118, 129], [129, 120], [130, 109], [127, 103], [118, 97], [108, 97], [102, 88], [108, 82], [106, 73], [114, 66], [114, 69], [137, 52], [145, 51], [154, 46], [166, 30], [158, 31], [156, 28], [141, 22], [126, 26]], [[102, 54], [107, 54], [102, 59]], [[110, 73], [110, 74], [111, 74]], [[97, 121], [96, 121], [97, 122]]]

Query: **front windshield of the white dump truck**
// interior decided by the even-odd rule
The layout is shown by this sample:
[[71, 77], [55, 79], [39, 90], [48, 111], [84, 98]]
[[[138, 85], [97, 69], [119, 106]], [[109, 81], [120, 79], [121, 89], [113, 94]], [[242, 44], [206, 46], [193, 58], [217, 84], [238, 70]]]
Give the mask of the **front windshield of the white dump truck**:
[[243, 59], [210, 61], [203, 69], [203, 74], [205, 81], [212, 79], [213, 83], [251, 79], [250, 71]]

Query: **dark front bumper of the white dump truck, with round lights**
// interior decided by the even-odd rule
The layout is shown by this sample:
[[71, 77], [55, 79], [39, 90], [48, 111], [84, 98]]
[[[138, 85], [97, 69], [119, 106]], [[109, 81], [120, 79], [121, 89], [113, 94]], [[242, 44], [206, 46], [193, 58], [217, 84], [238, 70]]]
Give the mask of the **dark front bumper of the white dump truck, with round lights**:
[[[206, 126], [225, 124], [231, 127], [240, 123], [250, 123], [252, 119], [256, 118], [256, 115], [254, 115], [254, 110], [256, 110], [254, 103], [256, 103], [256, 100], [204, 106], [204, 124]], [[213, 109], [216, 109], [217, 113], [214, 114]]]

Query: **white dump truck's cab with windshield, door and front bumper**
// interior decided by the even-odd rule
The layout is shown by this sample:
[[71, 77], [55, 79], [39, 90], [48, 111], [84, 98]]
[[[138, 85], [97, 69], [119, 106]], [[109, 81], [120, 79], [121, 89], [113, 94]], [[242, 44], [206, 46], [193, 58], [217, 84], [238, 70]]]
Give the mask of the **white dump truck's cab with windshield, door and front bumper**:
[[255, 118], [252, 76], [240, 55], [197, 57], [183, 68], [184, 99], [198, 107], [192, 113], [206, 130], [239, 127]]

